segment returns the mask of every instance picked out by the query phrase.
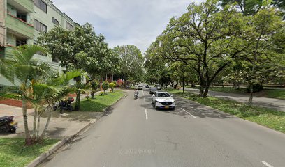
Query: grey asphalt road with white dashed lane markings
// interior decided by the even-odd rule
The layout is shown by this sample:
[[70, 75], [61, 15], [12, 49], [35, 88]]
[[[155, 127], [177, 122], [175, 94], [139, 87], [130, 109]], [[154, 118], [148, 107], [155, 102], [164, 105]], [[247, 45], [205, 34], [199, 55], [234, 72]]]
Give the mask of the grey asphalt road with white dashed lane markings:
[[285, 134], [189, 100], [155, 110], [133, 91], [41, 166], [285, 166]]

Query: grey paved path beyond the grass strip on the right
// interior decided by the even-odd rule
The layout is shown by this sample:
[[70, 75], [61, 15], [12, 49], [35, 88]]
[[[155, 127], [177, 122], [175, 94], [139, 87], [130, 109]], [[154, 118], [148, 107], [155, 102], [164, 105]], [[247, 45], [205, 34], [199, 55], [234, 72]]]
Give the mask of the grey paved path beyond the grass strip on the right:
[[[193, 88], [185, 88], [185, 90], [188, 90], [192, 93], [199, 93], [198, 89]], [[249, 101], [249, 95], [241, 95], [241, 94], [235, 94], [235, 93], [223, 93], [223, 92], [216, 92], [216, 91], [210, 91], [208, 95], [214, 96], [214, 97], [223, 97], [230, 100], [235, 100], [238, 102], [248, 102]], [[279, 100], [274, 98], [268, 98], [268, 97], [254, 97], [253, 104], [256, 106], [264, 106], [271, 109], [277, 109], [279, 111], [285, 112], [285, 100]]]

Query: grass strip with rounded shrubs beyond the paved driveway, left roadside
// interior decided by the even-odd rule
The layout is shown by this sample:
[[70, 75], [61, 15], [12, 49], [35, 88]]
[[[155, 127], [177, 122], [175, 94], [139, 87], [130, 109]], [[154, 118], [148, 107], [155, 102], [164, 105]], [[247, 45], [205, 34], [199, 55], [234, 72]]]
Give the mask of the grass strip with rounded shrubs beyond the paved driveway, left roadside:
[[[95, 99], [89, 98], [80, 102], [80, 111], [95, 111], [101, 112], [103, 109], [114, 104], [124, 93], [120, 90], [114, 90], [114, 93], [106, 92], [107, 95], [96, 95]], [[73, 104], [75, 105], [75, 104]]]

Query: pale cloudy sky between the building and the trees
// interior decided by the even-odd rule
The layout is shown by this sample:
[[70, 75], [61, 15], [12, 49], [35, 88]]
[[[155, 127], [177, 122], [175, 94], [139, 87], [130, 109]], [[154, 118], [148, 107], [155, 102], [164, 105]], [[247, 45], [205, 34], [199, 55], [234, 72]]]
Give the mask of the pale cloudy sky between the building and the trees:
[[79, 24], [91, 23], [110, 47], [136, 45], [142, 52], [154, 42], [173, 16], [190, 3], [204, 0], [52, 0]]

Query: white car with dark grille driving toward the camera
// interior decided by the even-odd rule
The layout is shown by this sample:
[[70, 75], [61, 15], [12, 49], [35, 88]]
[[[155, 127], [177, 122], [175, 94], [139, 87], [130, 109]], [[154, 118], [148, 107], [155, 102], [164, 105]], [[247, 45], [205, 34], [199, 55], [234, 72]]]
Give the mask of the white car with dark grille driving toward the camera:
[[175, 100], [167, 92], [154, 92], [152, 104], [154, 104], [155, 109], [175, 109]]

